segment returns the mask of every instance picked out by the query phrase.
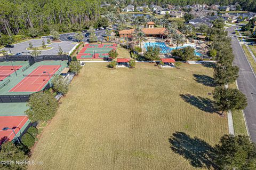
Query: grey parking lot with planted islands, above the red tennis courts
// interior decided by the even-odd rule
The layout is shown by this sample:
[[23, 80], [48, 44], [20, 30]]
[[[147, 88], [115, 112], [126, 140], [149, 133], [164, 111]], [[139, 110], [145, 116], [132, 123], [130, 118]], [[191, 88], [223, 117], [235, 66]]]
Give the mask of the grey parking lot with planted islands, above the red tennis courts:
[[[17, 53], [22, 53], [22, 55], [25, 55], [26, 52], [27, 54], [31, 51], [26, 50], [26, 48], [29, 46], [28, 43], [31, 42], [33, 44], [34, 47], [37, 46], [42, 46], [42, 41], [45, 41], [45, 43], [47, 42], [47, 38], [41, 38], [41, 39], [31, 39], [29, 41], [26, 42], [22, 42], [22, 43], [18, 43], [18, 44], [14, 44], [13, 48], [2, 48], [2, 50], [6, 50], [9, 53], [12, 54], [17, 54]], [[49, 45], [49, 47], [52, 47], [50, 50], [43, 50], [41, 51], [42, 55], [55, 55], [58, 53], [59, 51], [59, 46], [62, 48], [63, 52], [69, 52], [77, 43], [75, 42], [70, 42], [70, 41], [62, 41], [61, 43], [52, 43]]]

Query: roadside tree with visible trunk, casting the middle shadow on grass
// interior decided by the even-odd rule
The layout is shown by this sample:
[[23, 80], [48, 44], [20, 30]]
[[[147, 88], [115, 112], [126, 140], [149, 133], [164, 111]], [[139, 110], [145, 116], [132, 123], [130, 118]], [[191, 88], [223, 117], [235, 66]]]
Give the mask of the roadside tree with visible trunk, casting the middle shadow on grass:
[[246, 96], [239, 90], [233, 88], [215, 87], [213, 99], [215, 109], [221, 111], [220, 115], [224, 111], [242, 110], [247, 106]]

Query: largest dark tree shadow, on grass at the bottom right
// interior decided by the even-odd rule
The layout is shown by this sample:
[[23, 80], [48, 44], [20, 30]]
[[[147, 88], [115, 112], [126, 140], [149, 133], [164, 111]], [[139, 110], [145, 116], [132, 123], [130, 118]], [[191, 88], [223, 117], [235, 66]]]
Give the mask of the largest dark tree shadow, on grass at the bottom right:
[[184, 132], [175, 132], [170, 137], [170, 148], [190, 161], [193, 167], [212, 169], [217, 168], [214, 163], [214, 148], [198, 137], [190, 137]]

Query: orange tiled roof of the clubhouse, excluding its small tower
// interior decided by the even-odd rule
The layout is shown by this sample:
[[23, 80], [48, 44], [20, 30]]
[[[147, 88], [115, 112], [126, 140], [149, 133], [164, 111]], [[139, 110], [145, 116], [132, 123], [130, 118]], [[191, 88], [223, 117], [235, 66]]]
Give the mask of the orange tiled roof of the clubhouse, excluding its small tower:
[[[119, 31], [119, 34], [133, 34], [134, 29], [125, 29]], [[166, 28], [142, 28], [142, 32], [146, 35], [163, 35], [165, 34]], [[177, 34], [181, 34], [179, 30], [177, 30]]]

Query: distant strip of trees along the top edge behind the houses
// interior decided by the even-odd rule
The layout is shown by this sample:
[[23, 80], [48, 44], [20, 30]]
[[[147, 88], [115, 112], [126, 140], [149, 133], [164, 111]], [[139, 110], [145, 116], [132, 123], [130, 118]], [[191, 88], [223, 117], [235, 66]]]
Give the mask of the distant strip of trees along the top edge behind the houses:
[[220, 5], [230, 5], [238, 3], [241, 5], [243, 10], [245, 11], [256, 11], [256, 1], [255, 0], [104, 0], [103, 2], [107, 3], [119, 3], [122, 5], [151, 5], [156, 4], [159, 6], [165, 6], [165, 4], [171, 4], [171, 5], [193, 5], [193, 4], [220, 4]]

